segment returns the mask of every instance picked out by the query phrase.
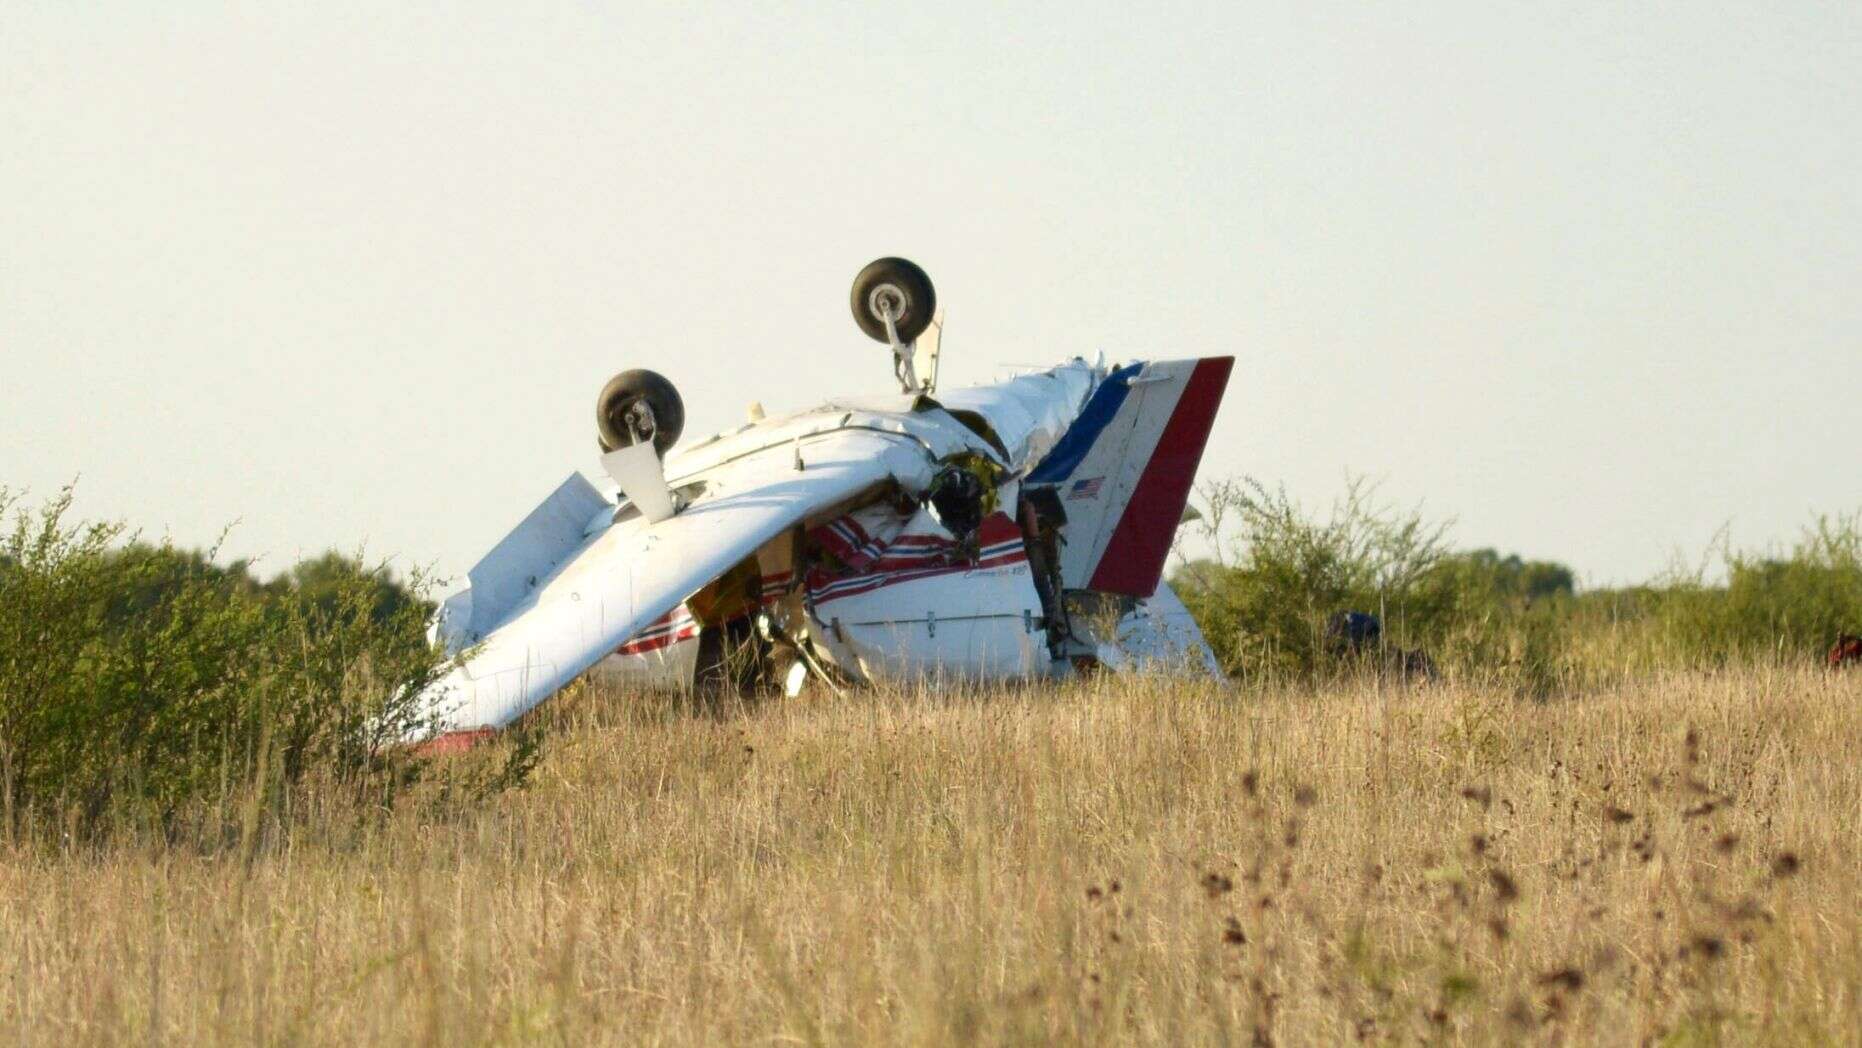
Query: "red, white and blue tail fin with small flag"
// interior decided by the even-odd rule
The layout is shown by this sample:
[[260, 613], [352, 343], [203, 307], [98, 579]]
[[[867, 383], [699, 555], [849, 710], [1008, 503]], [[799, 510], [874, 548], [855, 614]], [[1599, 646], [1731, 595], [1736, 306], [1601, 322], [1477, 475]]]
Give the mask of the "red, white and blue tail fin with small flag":
[[1149, 598], [1164, 577], [1235, 357], [1113, 370], [1028, 475], [1065, 510], [1065, 590]]

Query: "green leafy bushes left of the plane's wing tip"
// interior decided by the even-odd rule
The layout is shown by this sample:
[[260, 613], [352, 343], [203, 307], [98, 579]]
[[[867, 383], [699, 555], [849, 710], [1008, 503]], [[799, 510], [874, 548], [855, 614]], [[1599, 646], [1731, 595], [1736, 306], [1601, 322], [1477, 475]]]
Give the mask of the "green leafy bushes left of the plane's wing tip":
[[69, 510], [0, 490], [0, 836], [250, 840], [307, 786], [371, 812], [413, 784], [423, 581], [337, 553], [259, 581]]

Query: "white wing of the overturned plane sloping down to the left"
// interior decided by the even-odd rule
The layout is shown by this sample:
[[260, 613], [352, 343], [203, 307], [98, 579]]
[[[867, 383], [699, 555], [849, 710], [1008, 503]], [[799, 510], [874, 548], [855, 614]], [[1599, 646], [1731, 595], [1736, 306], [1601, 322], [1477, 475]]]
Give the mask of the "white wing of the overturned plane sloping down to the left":
[[[423, 713], [441, 732], [503, 728], [784, 529], [888, 478], [922, 484], [935, 458], [911, 434], [834, 430], [706, 471], [704, 493], [659, 523], [627, 506], [613, 523], [598, 514], [579, 545], [525, 579], [527, 596], [492, 612], [495, 622], [473, 609], [482, 640], [423, 692]], [[540, 506], [544, 517], [562, 516], [551, 503], [588, 504], [573, 482], [564, 490]], [[519, 532], [536, 521], [533, 514]], [[497, 571], [506, 588], [512, 573]]]

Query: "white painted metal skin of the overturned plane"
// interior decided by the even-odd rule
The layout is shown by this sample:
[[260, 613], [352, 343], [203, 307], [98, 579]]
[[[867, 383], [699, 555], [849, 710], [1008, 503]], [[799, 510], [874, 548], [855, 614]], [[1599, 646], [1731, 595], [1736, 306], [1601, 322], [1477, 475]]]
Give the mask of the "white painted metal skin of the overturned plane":
[[[1102, 475], [1108, 504], [1117, 491], [1128, 495], [1136, 478], [1125, 475], [1141, 469], [1149, 452], [1138, 452], [1156, 443], [1169, 417], [1162, 400], [1177, 396], [1184, 367], [1194, 363], [1151, 365], [1138, 374], [1108, 426], [1108, 437], [1117, 437], [1093, 441], [1065, 482]], [[441, 605], [434, 633], [462, 663], [421, 694], [425, 713], [439, 732], [503, 728], [611, 655], [631, 659], [609, 663], [631, 679], [689, 676], [696, 642], [683, 625], [672, 625], [681, 633], [663, 652], [635, 655], [702, 586], [760, 551], [767, 555], [780, 545], [771, 545], [778, 536], [830, 519], [888, 484], [924, 493], [953, 456], [983, 456], [1009, 478], [1026, 475], [1061, 443], [1106, 374], [1073, 361], [937, 400], [866, 398], [756, 419], [670, 454], [665, 484], [642, 480], [648, 471], [637, 462], [611, 462], [624, 488], [650, 488], [631, 501], [622, 486], [603, 493], [572, 477], [473, 568], [466, 592]], [[979, 419], [987, 432], [959, 415]], [[1100, 465], [1104, 473], [1095, 473]], [[663, 501], [668, 488], [680, 499], [672, 514]], [[1013, 514], [1013, 480], [1005, 491], [1004, 508]], [[1099, 499], [1076, 499], [1069, 512], [1087, 510], [1086, 501]], [[1097, 514], [1080, 516], [1093, 519], [1082, 519], [1082, 536], [1063, 547], [1061, 564], [1076, 577], [1104, 555], [1110, 527]], [[1019, 540], [1009, 545], [1020, 551]], [[843, 672], [868, 681], [1063, 672], [1065, 663], [1050, 663], [1026, 557], [998, 557], [1005, 560], [979, 558], [974, 570], [912, 575], [810, 607], [810, 635]], [[778, 577], [769, 571], [765, 566], [765, 586]], [[806, 598], [789, 592], [789, 601]], [[1130, 644], [1130, 665], [1177, 655], [1212, 665], [1167, 586], [1141, 603], [1141, 614], [1127, 616], [1115, 642]]]

